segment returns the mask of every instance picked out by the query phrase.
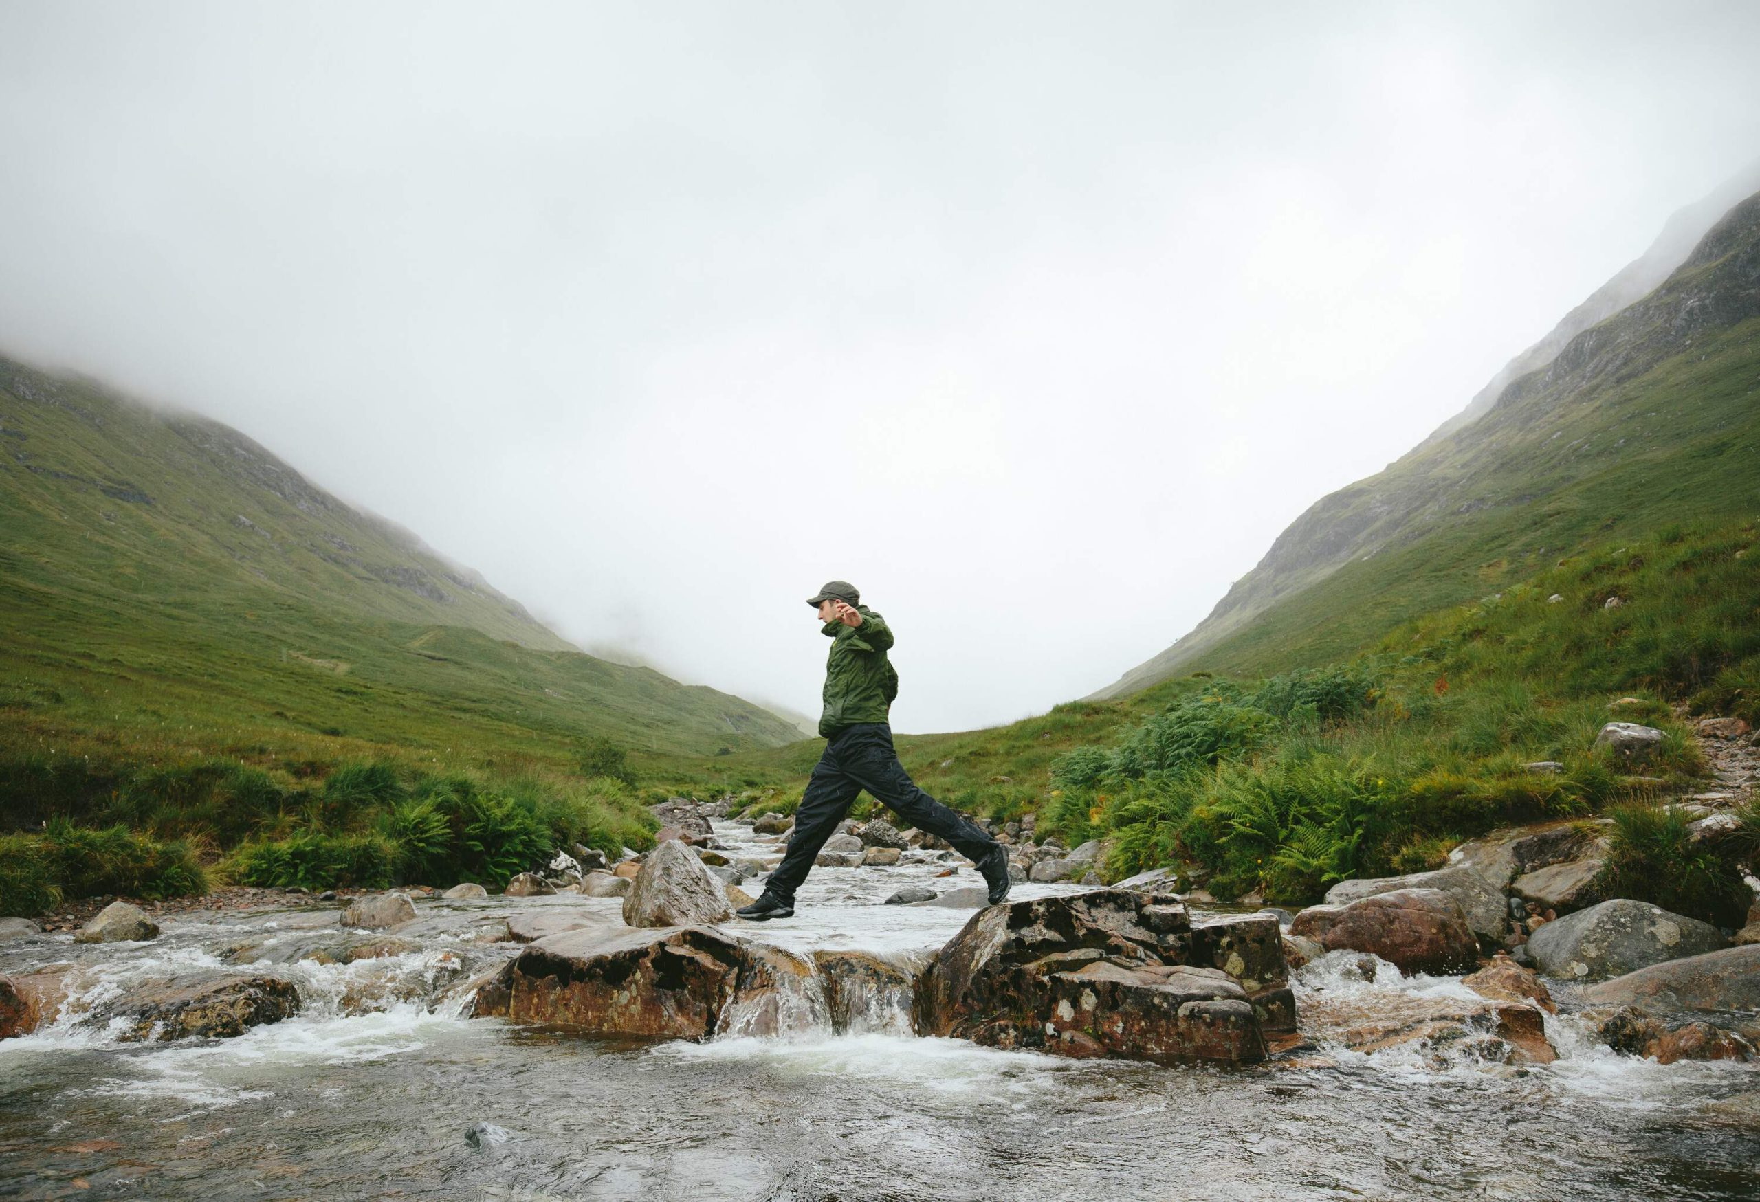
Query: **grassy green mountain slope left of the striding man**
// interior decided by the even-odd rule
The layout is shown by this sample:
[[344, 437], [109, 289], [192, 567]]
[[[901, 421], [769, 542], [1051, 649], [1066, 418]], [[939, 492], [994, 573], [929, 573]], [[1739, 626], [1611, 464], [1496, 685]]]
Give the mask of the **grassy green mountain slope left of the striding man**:
[[583, 655], [218, 422], [0, 359], [0, 734], [121, 759], [400, 750], [572, 771], [760, 748], [781, 718]]

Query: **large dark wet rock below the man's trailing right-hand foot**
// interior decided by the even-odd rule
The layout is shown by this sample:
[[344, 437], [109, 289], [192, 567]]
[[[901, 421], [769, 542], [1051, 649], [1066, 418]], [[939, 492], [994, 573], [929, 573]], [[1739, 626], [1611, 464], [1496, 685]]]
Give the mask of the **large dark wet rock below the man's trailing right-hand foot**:
[[1264, 1059], [1248, 991], [1190, 963], [1192, 949], [1172, 896], [1105, 889], [989, 906], [926, 970], [917, 1028], [1065, 1056]]

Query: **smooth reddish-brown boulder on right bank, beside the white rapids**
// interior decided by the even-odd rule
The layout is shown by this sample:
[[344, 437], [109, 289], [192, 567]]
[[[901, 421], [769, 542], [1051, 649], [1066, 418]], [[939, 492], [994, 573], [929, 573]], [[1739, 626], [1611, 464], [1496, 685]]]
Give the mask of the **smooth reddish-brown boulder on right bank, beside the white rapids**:
[[1478, 959], [1461, 903], [1440, 889], [1396, 889], [1345, 906], [1309, 906], [1290, 934], [1331, 950], [1371, 952], [1401, 971], [1456, 973]]

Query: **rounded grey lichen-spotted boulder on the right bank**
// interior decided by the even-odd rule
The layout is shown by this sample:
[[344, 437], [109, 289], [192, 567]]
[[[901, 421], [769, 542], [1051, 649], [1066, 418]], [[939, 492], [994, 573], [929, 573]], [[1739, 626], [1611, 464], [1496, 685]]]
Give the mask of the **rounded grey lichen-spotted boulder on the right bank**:
[[1547, 922], [1529, 936], [1528, 954], [1547, 977], [1588, 982], [1727, 945], [1707, 922], [1616, 898]]

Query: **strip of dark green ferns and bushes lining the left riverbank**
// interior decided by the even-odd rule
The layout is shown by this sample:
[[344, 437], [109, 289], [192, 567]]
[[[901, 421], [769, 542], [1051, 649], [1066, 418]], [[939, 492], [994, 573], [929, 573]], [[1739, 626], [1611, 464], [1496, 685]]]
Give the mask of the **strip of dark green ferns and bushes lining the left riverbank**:
[[25, 829], [0, 836], [0, 913], [93, 894], [199, 894], [211, 878], [502, 889], [556, 848], [616, 857], [651, 847], [655, 831], [642, 799], [614, 778], [410, 776], [385, 762], [345, 764], [322, 781], [216, 760], [132, 773], [5, 767], [25, 806], [7, 820]]

